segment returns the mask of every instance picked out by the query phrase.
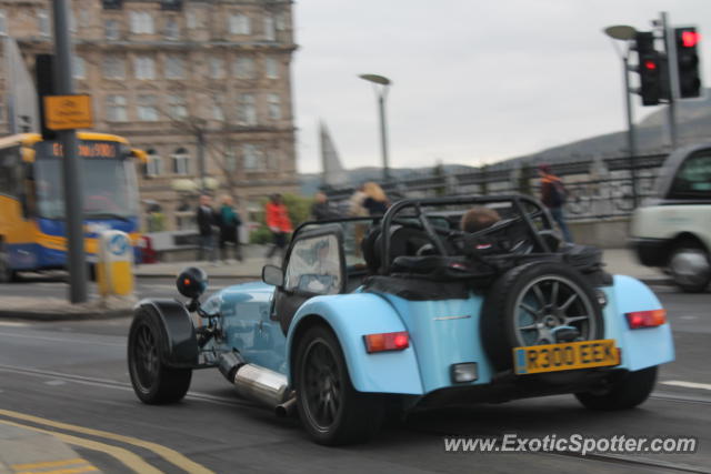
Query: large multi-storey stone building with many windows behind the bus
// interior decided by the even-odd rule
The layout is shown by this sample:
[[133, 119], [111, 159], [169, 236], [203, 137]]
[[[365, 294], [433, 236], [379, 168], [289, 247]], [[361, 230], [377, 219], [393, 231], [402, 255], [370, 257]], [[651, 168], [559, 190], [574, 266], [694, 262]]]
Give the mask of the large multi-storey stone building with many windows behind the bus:
[[[291, 1], [72, 0], [71, 10], [76, 92], [91, 94], [96, 130], [148, 153], [142, 208], [158, 204], [167, 230], [192, 225], [201, 150], [209, 188], [250, 220], [263, 196], [297, 191]], [[49, 0], [0, 0], [0, 33], [31, 71], [51, 52], [51, 28]]]

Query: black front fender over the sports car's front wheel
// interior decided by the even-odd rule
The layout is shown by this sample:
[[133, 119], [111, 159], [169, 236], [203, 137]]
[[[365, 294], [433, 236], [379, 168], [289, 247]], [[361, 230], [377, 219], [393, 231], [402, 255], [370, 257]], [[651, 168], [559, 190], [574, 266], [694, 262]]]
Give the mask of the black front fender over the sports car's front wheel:
[[198, 339], [186, 306], [176, 300], [141, 300], [138, 306], [157, 317], [164, 335], [161, 361], [173, 367], [198, 365]]

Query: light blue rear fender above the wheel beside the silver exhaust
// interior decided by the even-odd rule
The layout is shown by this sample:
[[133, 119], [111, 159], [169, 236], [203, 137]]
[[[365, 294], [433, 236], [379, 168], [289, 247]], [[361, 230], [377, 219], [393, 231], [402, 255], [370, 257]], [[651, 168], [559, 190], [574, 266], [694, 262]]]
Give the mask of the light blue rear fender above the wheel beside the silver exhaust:
[[365, 334], [407, 331], [393, 306], [372, 293], [317, 296], [294, 315], [287, 334], [287, 371], [293, 384], [296, 350], [311, 324], [328, 325], [341, 344], [353, 387], [359, 392], [420, 395], [422, 381], [414, 347], [369, 354]]

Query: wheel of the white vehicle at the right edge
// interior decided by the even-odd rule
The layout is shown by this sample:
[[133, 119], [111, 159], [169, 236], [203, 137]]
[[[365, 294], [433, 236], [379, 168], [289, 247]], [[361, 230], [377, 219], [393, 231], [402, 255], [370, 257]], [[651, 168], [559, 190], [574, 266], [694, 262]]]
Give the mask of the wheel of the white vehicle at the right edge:
[[674, 243], [669, 254], [669, 272], [687, 293], [700, 293], [709, 286], [710, 266], [705, 248], [691, 238]]

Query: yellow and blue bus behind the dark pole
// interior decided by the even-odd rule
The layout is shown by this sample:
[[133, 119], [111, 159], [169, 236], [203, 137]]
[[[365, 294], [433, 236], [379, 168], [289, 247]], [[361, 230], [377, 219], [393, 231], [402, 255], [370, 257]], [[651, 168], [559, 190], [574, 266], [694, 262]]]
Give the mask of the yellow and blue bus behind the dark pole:
[[[83, 185], [84, 250], [96, 262], [98, 236], [127, 232], [138, 252], [139, 198], [129, 142], [106, 133], [78, 133]], [[67, 230], [62, 147], [36, 133], [0, 138], [0, 282], [19, 271], [63, 269]]]

